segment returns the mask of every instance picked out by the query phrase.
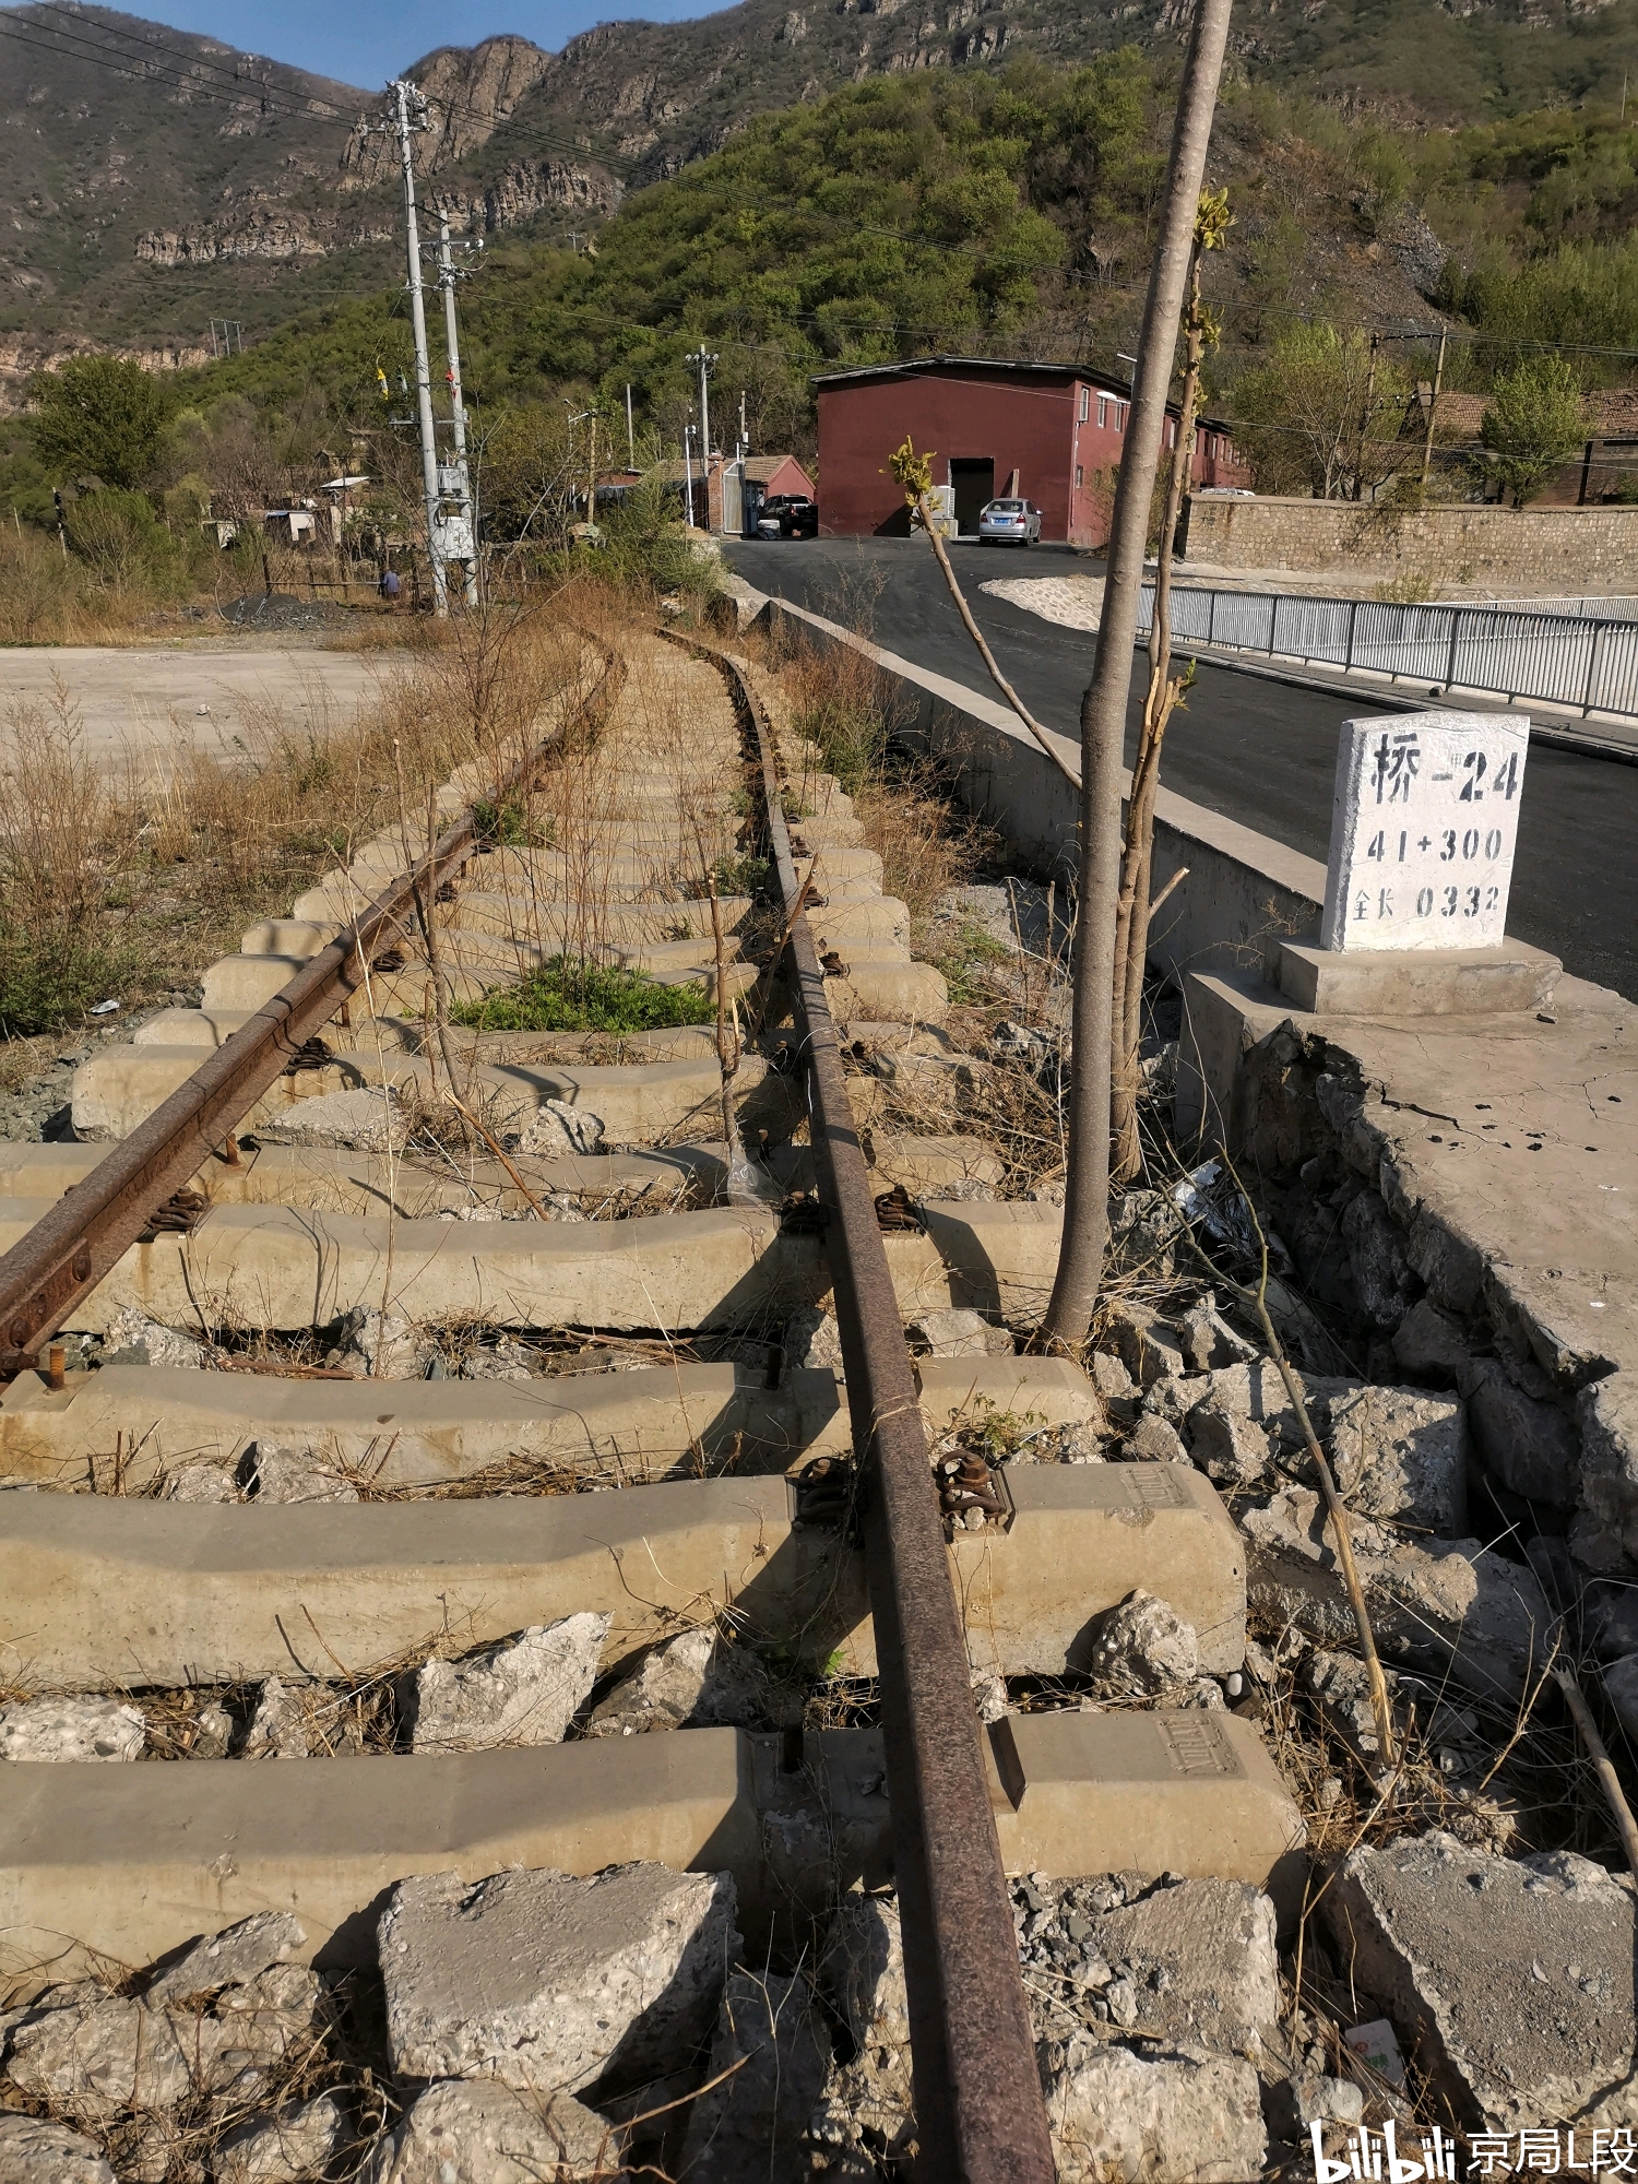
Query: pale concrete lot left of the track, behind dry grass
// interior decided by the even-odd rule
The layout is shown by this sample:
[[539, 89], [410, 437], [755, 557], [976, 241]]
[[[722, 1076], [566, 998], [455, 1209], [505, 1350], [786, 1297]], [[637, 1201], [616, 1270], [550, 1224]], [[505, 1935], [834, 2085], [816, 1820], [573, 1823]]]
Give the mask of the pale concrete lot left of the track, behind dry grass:
[[332, 653], [317, 646], [31, 644], [0, 649], [0, 721], [17, 703], [50, 703], [61, 681], [85, 736], [85, 753], [120, 764], [170, 749], [186, 736], [232, 753], [234, 736], [271, 721], [345, 727], [408, 655]]

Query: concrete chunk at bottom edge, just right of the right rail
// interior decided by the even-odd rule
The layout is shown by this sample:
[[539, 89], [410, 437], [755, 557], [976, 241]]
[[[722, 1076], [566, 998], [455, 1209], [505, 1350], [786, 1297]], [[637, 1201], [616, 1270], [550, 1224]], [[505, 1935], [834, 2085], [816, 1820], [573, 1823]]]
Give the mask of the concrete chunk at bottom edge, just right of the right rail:
[[1267, 2132], [1249, 2062], [1186, 2049], [1070, 2049], [1046, 2088], [1059, 2184], [1245, 2184], [1262, 2175]]

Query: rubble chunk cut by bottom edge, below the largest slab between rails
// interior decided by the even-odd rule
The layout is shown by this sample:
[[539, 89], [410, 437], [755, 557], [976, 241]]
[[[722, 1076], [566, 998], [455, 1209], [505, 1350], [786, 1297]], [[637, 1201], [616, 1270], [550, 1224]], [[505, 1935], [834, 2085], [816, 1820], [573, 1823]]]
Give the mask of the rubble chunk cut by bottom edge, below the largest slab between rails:
[[622, 2173], [616, 2134], [568, 2092], [478, 2079], [428, 2086], [371, 2147], [358, 2184], [612, 2184]]

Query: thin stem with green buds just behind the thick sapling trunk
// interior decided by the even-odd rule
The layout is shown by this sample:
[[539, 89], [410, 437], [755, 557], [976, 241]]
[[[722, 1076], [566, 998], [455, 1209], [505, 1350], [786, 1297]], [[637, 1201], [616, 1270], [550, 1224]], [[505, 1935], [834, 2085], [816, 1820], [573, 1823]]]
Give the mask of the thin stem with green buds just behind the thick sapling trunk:
[[1216, 325], [1199, 293], [1203, 251], [1221, 249], [1230, 229], [1227, 190], [1203, 190], [1195, 214], [1195, 249], [1188, 266], [1188, 312], [1184, 319], [1184, 389], [1177, 404], [1177, 439], [1171, 450], [1166, 502], [1160, 515], [1155, 548], [1155, 612], [1149, 620], [1149, 688], [1142, 703], [1142, 736], [1138, 762], [1131, 769], [1127, 795], [1127, 836], [1120, 856], [1120, 904], [1114, 939], [1114, 1011], [1109, 1022], [1109, 1179], [1131, 1184], [1142, 1173], [1138, 1138], [1138, 1046], [1142, 1044], [1142, 974], [1149, 961], [1149, 919], [1155, 904], [1155, 797], [1160, 791], [1160, 747], [1166, 723], [1188, 690], [1195, 664], [1182, 675], [1171, 673], [1171, 572], [1177, 520], [1195, 467], [1195, 424], [1199, 380], [1206, 349], [1216, 339]]

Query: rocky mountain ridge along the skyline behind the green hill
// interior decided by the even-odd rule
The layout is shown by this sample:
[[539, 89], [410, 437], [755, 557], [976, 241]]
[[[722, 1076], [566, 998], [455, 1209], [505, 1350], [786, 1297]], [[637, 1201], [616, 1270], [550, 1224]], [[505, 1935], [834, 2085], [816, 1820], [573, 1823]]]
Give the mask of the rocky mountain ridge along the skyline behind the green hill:
[[[1345, 116], [1444, 118], [1524, 94], [1594, 96], [1638, 72], [1638, 0], [1243, 0], [1236, 70], [1304, 81]], [[1177, 52], [1188, 0], [738, 0], [679, 24], [616, 22], [548, 52], [502, 33], [406, 74], [430, 96], [415, 164], [432, 221], [568, 242], [622, 199], [721, 151], [764, 111], [869, 76], [1068, 66], [1116, 44]], [[221, 39], [87, 4], [0, 37], [0, 384], [24, 360], [120, 347], [207, 354], [334, 295], [402, 280], [397, 164], [367, 94]], [[7, 345], [20, 363], [9, 367]]]

